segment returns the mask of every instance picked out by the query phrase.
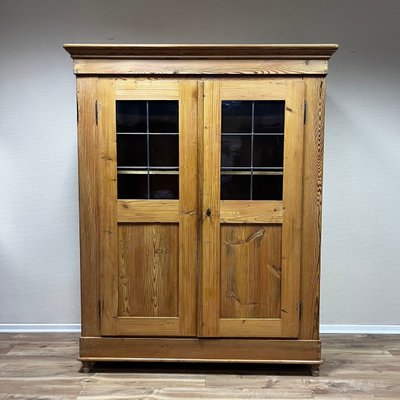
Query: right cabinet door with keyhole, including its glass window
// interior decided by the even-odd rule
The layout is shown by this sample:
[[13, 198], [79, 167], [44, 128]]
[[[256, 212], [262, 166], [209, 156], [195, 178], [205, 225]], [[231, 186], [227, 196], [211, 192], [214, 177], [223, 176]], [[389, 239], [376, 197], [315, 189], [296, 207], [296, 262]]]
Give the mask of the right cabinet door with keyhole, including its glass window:
[[301, 79], [204, 83], [199, 334], [297, 337]]

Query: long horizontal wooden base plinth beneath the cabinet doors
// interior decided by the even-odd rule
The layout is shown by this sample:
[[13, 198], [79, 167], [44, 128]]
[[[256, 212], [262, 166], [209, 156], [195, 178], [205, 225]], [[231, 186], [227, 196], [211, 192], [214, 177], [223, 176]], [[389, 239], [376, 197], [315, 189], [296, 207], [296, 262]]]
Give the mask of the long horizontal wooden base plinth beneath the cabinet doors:
[[321, 364], [319, 340], [83, 337], [80, 361]]

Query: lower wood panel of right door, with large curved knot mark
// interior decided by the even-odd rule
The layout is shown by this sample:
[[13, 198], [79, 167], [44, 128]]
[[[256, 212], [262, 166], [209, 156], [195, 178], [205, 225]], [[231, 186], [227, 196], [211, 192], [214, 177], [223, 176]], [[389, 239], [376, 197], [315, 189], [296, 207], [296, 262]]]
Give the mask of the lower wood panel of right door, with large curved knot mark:
[[280, 318], [281, 240], [280, 225], [221, 226], [222, 318]]

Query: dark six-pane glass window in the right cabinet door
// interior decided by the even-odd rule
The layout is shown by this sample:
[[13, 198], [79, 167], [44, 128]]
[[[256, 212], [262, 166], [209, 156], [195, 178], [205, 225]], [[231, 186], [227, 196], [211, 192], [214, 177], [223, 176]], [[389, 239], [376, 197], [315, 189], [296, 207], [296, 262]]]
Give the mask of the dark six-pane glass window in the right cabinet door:
[[284, 105], [222, 102], [222, 200], [282, 199]]

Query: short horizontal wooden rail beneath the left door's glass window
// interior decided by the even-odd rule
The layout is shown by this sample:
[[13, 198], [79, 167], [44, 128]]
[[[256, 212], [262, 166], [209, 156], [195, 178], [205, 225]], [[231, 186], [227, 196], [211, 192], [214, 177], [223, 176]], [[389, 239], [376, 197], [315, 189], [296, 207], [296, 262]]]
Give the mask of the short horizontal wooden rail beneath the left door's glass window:
[[179, 222], [179, 200], [118, 200], [118, 222]]

